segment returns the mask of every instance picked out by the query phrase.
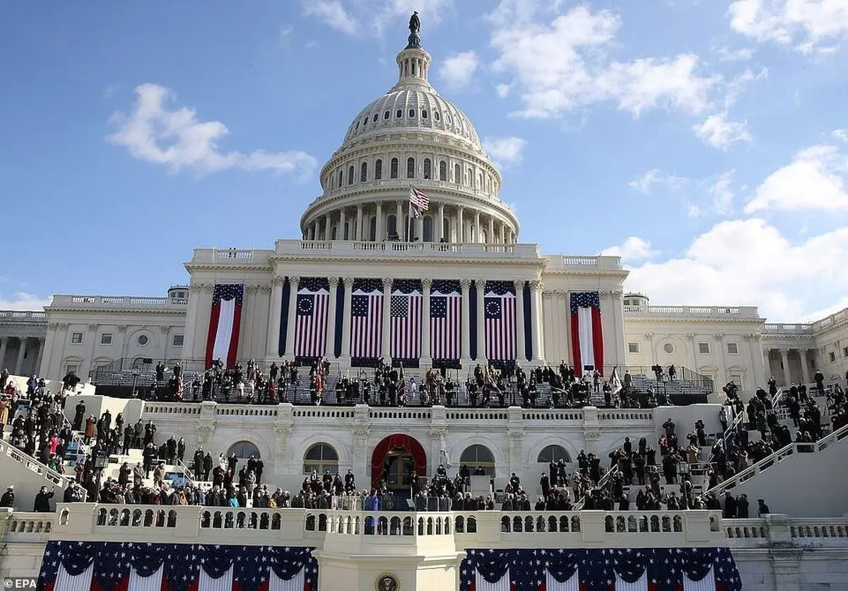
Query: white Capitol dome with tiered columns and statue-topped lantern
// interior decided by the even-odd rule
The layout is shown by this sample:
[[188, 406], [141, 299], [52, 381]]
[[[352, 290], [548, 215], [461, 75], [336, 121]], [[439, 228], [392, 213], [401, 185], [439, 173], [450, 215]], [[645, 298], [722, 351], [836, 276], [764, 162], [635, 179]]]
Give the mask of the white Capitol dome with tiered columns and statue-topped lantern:
[[[430, 85], [417, 35], [397, 56], [398, 82], [356, 115], [321, 169], [305, 240], [515, 243], [518, 220], [471, 120]], [[426, 212], [410, 220], [410, 187]]]

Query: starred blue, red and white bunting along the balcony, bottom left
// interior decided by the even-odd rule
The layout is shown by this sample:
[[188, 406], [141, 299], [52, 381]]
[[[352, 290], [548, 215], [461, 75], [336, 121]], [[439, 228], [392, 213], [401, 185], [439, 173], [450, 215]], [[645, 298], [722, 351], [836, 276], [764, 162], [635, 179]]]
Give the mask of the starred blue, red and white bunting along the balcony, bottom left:
[[43, 591], [317, 591], [312, 548], [51, 541]]

